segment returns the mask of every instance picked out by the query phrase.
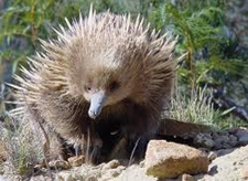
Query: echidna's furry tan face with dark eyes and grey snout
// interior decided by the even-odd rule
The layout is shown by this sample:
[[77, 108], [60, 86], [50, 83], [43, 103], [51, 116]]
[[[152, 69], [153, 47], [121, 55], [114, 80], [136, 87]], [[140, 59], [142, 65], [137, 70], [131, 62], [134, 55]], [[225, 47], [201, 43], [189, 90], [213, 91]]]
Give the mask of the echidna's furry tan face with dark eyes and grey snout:
[[87, 63], [74, 68], [72, 89], [90, 104], [88, 115], [93, 119], [100, 115], [104, 107], [128, 98], [137, 85], [138, 71], [130, 66], [131, 60], [118, 55], [101, 54], [100, 58], [90, 57]]

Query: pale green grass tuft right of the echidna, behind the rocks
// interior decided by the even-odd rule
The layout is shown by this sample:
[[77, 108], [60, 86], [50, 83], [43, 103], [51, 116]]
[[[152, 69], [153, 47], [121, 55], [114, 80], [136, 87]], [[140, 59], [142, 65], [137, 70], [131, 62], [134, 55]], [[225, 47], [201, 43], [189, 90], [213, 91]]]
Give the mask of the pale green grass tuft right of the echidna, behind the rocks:
[[215, 129], [220, 129], [219, 120], [222, 117], [233, 110], [219, 111], [214, 109], [213, 92], [206, 87], [196, 87], [190, 94], [180, 87], [176, 87], [175, 96], [172, 99], [172, 107], [166, 115], [169, 117], [200, 125], [207, 125]]

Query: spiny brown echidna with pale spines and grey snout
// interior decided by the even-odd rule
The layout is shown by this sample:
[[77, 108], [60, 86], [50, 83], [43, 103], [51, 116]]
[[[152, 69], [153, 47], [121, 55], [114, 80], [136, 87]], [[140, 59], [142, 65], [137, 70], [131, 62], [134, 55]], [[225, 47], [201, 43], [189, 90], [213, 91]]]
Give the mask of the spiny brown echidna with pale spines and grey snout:
[[89, 137], [99, 146], [115, 130], [129, 142], [152, 138], [172, 93], [175, 41], [130, 14], [90, 10], [65, 21], [15, 76], [18, 110], [72, 145]]

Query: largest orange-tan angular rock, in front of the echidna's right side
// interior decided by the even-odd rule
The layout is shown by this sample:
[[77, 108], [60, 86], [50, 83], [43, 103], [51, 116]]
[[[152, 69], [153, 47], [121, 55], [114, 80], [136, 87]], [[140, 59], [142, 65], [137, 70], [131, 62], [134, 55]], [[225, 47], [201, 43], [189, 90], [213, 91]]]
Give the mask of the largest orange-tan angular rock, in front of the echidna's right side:
[[148, 143], [144, 161], [148, 175], [166, 179], [183, 173], [196, 174], [207, 172], [208, 164], [206, 155], [195, 148], [165, 140]]

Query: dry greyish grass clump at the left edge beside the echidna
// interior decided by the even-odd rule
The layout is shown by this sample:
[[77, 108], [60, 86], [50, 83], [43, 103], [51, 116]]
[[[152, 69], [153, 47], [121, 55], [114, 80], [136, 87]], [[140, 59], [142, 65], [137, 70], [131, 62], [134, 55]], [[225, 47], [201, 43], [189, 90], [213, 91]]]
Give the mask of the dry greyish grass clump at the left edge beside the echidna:
[[18, 124], [6, 117], [0, 125], [0, 140], [8, 156], [1, 164], [7, 175], [29, 177], [34, 166], [43, 159], [41, 145], [28, 123]]

